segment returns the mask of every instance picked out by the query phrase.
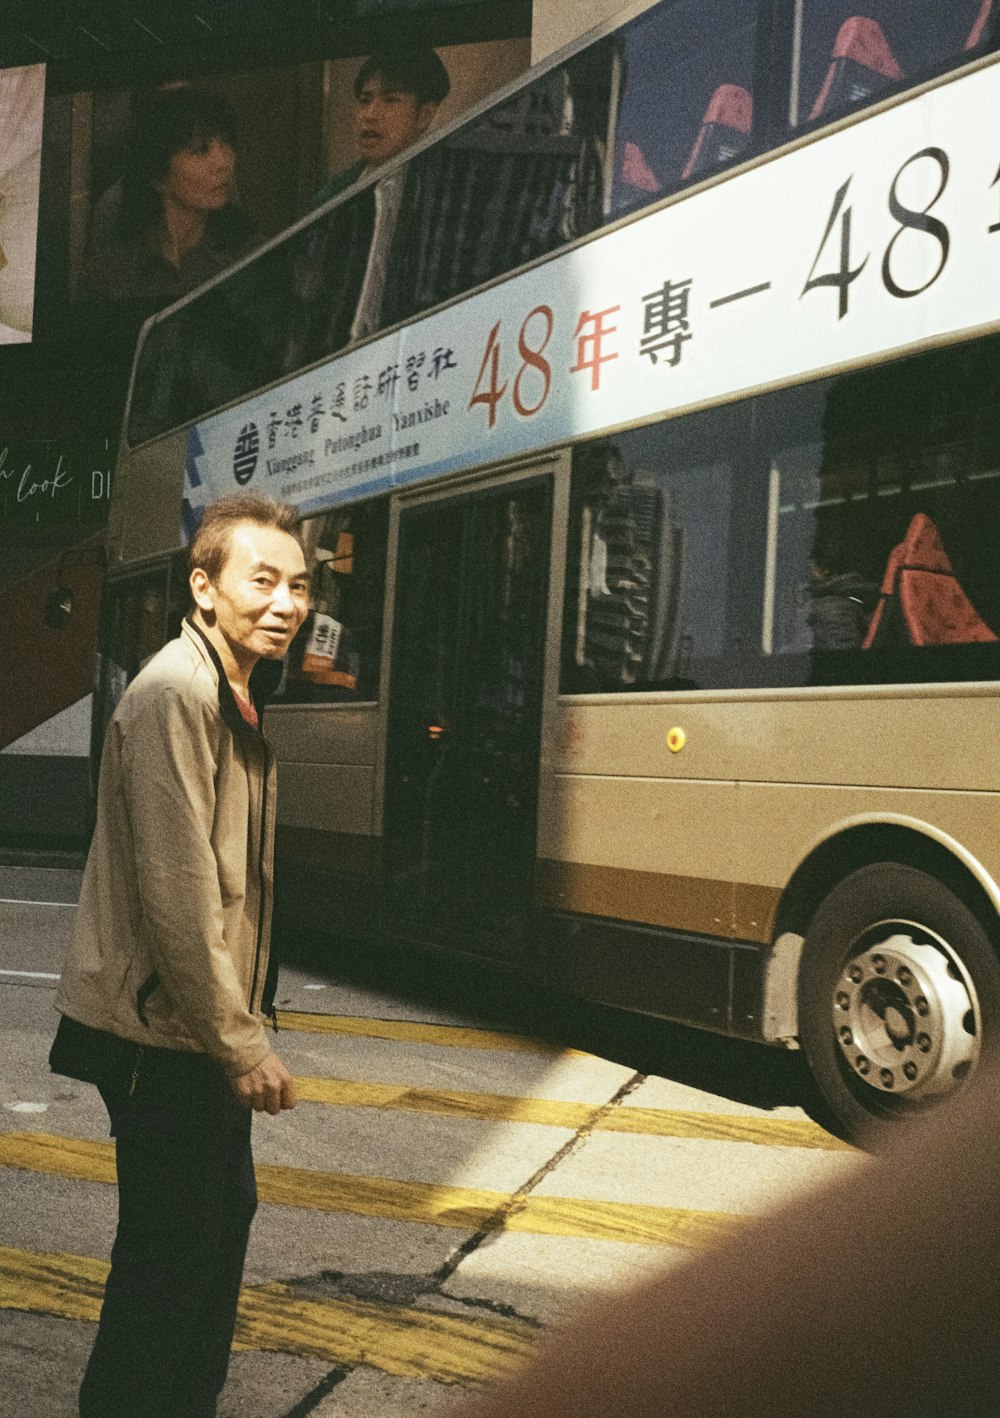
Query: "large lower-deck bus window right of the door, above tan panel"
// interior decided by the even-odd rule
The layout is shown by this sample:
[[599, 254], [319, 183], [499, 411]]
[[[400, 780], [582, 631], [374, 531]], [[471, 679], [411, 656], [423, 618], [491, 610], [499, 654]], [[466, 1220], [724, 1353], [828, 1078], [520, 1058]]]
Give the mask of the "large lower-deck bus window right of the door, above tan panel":
[[1000, 678], [1000, 339], [573, 454], [563, 693]]

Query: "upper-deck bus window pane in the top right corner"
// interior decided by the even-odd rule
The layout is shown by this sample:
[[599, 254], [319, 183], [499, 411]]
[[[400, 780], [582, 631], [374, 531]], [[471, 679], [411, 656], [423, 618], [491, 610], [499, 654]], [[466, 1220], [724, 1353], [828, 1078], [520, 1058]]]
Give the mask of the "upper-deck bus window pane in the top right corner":
[[991, 44], [996, 0], [803, 0], [793, 122], [837, 118]]

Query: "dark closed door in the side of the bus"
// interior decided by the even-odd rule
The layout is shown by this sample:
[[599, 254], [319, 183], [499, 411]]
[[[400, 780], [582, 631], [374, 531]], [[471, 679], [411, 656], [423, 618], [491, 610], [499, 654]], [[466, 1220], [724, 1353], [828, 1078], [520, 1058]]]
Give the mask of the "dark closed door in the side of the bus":
[[526, 949], [552, 479], [401, 512], [383, 824], [390, 934]]

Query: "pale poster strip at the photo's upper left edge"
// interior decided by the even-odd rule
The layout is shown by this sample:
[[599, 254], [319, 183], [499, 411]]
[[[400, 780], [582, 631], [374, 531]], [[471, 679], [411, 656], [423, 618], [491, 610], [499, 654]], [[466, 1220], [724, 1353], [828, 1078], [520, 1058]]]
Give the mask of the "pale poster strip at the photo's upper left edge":
[[45, 65], [0, 69], [0, 345], [34, 325]]

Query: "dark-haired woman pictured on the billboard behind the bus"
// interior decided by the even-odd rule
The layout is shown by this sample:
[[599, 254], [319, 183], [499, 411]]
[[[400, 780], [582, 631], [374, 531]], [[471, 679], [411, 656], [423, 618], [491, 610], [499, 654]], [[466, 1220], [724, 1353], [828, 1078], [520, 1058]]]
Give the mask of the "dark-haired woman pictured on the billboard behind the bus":
[[167, 305], [251, 250], [252, 224], [234, 203], [235, 140], [235, 113], [218, 95], [182, 85], [139, 104], [81, 294]]

